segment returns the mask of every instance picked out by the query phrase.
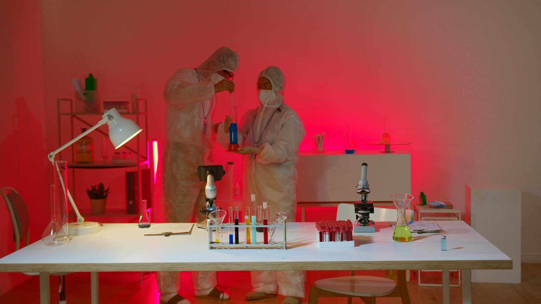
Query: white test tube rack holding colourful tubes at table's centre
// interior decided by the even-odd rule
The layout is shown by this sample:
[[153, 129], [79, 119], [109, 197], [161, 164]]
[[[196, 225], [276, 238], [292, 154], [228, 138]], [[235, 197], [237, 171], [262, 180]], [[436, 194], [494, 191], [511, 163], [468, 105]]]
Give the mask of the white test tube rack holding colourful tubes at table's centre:
[[[229, 242], [215, 242], [213, 238], [213, 230], [214, 228], [222, 228], [222, 233], [226, 234], [225, 232], [227, 229], [224, 228], [263, 228], [268, 227], [268, 233], [269, 238], [271, 237], [272, 228], [281, 229], [283, 231], [283, 241], [278, 242], [272, 242], [272, 244], [263, 244], [263, 242], [257, 242], [257, 244], [246, 244], [245, 242], [240, 242], [239, 244], [229, 244]], [[284, 221], [282, 224], [269, 224], [269, 225], [245, 225], [245, 224], [239, 224], [239, 225], [229, 225], [229, 224], [223, 224], [223, 225], [210, 225], [210, 221], [207, 221], [207, 232], [208, 232], [208, 248], [209, 249], [286, 249], [287, 246], [287, 239], [286, 239], [286, 222]], [[276, 233], [279, 233], [279, 231], [276, 231]], [[275, 233], [275, 236], [276, 236]], [[262, 236], [258, 237], [259, 239], [263, 239]]]

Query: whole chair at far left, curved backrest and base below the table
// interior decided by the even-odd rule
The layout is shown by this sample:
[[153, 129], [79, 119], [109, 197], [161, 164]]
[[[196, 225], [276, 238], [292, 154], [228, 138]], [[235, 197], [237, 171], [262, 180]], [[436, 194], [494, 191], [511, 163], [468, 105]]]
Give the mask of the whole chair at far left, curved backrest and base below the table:
[[[9, 193], [6, 193], [9, 191]], [[30, 235], [30, 217], [28, 215], [28, 208], [23, 198], [12, 187], [3, 187], [0, 189], [2, 198], [4, 198], [5, 205], [8, 207], [9, 216], [11, 218], [11, 225], [13, 226], [13, 240], [15, 241], [15, 251], [19, 250], [22, 241], [21, 236], [24, 238], [24, 246], [28, 246], [28, 237]], [[23, 272], [26, 275], [39, 275], [38, 272]], [[72, 272], [52, 272], [50, 275], [60, 276], [60, 286], [58, 293], [60, 293], [60, 300], [58, 303], [64, 304], [65, 301], [65, 285], [64, 275], [71, 274]]]

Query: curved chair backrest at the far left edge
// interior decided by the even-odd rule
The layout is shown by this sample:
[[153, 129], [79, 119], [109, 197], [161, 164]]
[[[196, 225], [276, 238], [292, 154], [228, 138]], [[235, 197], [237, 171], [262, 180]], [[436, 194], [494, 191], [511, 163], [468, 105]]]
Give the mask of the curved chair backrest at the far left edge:
[[[6, 193], [9, 191], [9, 193]], [[30, 228], [30, 217], [28, 215], [27, 205], [23, 198], [12, 187], [3, 187], [0, 192], [4, 198], [5, 205], [8, 207], [11, 225], [13, 226], [13, 240], [15, 241], [15, 251], [19, 249], [19, 243], [25, 238], [25, 246], [28, 245], [28, 235]]]

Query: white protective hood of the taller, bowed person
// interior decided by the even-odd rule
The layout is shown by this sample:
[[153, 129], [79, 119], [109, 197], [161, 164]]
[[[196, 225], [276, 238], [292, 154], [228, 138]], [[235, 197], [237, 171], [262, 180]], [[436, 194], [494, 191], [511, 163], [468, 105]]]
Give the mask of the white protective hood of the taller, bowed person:
[[227, 70], [236, 73], [239, 68], [239, 55], [225, 46], [217, 49], [205, 62], [197, 67], [201, 79], [211, 80], [217, 71]]

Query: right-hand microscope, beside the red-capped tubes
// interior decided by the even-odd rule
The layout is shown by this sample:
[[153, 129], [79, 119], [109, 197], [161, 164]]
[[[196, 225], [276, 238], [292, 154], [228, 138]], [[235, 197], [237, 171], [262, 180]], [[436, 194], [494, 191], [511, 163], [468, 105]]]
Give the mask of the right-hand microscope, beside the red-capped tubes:
[[355, 218], [359, 221], [353, 228], [353, 232], [375, 232], [374, 221], [370, 219], [370, 213], [374, 213], [374, 203], [368, 201], [368, 181], [366, 180], [366, 169], [368, 164], [362, 163], [361, 179], [357, 185], [357, 193], [361, 194], [361, 201], [355, 202]]

